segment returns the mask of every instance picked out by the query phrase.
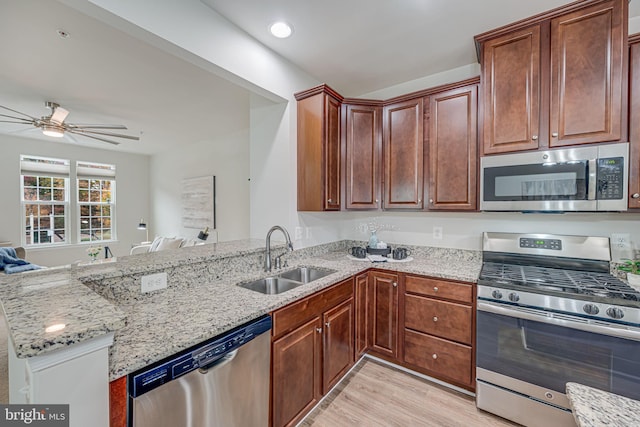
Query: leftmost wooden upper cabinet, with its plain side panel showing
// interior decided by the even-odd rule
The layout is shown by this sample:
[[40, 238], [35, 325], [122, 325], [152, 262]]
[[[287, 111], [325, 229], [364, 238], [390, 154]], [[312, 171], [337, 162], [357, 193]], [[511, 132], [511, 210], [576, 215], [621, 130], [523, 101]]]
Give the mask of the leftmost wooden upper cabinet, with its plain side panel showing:
[[342, 97], [326, 85], [298, 101], [298, 210], [340, 210]]

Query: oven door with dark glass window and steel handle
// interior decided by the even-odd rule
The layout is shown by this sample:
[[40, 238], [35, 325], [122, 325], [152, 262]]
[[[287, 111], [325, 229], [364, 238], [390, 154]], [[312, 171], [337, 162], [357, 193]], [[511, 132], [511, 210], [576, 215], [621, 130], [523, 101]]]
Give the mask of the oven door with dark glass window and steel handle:
[[[481, 300], [477, 316], [478, 380], [562, 394], [567, 382], [577, 382], [640, 399], [640, 333]], [[510, 384], [500, 384], [505, 381]]]

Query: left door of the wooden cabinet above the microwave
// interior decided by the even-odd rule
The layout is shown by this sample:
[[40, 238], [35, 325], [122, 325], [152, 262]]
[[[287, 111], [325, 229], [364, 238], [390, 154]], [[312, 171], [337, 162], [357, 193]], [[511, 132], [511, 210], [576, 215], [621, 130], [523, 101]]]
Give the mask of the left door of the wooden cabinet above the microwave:
[[484, 43], [483, 154], [538, 148], [540, 30], [534, 25]]

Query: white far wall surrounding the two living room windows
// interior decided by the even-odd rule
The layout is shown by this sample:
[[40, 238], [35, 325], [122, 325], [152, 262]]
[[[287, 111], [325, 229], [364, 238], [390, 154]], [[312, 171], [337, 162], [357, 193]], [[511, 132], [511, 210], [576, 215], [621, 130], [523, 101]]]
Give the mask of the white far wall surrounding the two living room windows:
[[[126, 255], [131, 244], [143, 239], [136, 227], [140, 217], [149, 212], [149, 157], [120, 153], [78, 144], [0, 135], [0, 240], [21, 245], [22, 213], [20, 208], [20, 155], [84, 160], [116, 165], [117, 241], [107, 243], [115, 256]], [[72, 212], [75, 215], [74, 212]], [[87, 244], [52, 248], [27, 248], [27, 259], [43, 266], [87, 261]]]

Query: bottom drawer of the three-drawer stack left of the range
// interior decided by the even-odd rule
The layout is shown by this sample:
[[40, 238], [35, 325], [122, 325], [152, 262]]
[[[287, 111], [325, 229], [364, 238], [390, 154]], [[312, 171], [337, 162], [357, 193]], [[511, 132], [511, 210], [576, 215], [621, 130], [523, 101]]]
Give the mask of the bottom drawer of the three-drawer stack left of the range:
[[471, 347], [405, 330], [404, 361], [462, 384], [471, 384]]

